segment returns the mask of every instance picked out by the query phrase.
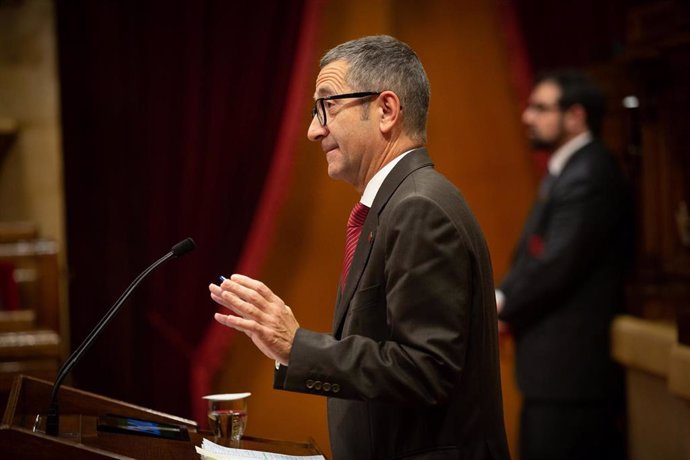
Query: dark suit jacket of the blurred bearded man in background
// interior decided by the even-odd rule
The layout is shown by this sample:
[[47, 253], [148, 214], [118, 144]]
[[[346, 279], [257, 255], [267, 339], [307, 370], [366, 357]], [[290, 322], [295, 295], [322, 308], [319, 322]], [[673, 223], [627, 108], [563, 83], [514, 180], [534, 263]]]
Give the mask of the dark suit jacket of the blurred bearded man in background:
[[500, 288], [500, 319], [516, 343], [527, 398], [605, 400], [621, 395], [610, 325], [622, 307], [633, 248], [631, 201], [614, 158], [591, 142], [538, 199]]

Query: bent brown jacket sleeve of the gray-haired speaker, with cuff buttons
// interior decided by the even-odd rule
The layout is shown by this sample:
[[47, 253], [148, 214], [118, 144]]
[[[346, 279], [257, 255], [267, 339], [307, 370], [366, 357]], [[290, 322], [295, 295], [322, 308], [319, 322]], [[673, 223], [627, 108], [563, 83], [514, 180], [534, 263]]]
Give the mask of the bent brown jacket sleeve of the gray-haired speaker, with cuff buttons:
[[358, 288], [341, 339], [298, 330], [284, 389], [402, 405], [451, 397], [469, 335], [467, 237], [428, 198], [391, 207], [362, 276], [378, 283]]

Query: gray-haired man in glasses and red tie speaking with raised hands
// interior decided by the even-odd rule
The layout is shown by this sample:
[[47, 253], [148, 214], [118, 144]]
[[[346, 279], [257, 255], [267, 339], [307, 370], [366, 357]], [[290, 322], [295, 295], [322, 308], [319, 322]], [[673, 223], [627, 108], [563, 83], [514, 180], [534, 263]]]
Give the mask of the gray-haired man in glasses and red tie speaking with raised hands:
[[336, 459], [507, 458], [489, 253], [423, 148], [421, 63], [392, 37], [353, 40], [322, 58], [315, 98], [308, 137], [362, 194], [333, 333], [240, 275], [210, 286], [239, 315], [216, 319], [276, 360], [276, 388], [329, 398]]

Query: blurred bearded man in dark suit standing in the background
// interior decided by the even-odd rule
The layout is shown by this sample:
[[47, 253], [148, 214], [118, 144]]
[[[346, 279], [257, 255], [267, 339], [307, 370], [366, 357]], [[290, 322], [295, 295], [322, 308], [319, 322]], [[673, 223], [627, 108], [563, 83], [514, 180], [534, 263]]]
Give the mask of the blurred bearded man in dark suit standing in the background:
[[626, 181], [598, 140], [603, 108], [584, 74], [559, 71], [538, 80], [523, 113], [532, 143], [551, 156], [497, 290], [524, 397], [521, 460], [623, 454], [623, 382], [609, 328], [623, 303], [633, 225]]

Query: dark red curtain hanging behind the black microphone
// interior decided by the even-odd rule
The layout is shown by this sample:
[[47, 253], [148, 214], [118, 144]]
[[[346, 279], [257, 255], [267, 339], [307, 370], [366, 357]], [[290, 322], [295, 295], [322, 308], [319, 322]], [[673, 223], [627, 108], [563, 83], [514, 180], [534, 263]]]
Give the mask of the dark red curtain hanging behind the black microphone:
[[141, 270], [198, 244], [142, 283], [79, 388], [192, 415], [206, 286], [270, 237], [313, 3], [57, 2], [72, 349]]

